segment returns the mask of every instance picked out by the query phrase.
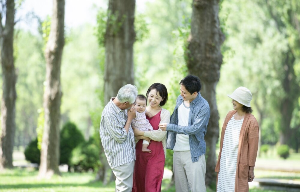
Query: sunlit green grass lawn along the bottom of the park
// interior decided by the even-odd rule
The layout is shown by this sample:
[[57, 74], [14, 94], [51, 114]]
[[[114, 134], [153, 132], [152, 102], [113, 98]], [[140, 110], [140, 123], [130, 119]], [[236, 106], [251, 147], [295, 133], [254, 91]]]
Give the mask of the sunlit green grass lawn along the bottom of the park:
[[[14, 153], [14, 163], [24, 164], [23, 153]], [[300, 167], [300, 154], [292, 153], [283, 160], [275, 153], [262, 155], [256, 161], [254, 169], [256, 178], [287, 179], [300, 181], [300, 172], [280, 172], [259, 170], [261, 167]], [[17, 161], [16, 161], [17, 160]], [[23, 162], [24, 161], [24, 162]], [[26, 162], [25, 162], [26, 163]], [[51, 179], [39, 179], [38, 171], [25, 168], [15, 168], [0, 172], [1, 192], [114, 192], [115, 183], [103, 186], [101, 182], [93, 182], [94, 173], [62, 173], [62, 176], [53, 176]], [[255, 181], [255, 179], [254, 179]], [[170, 184], [169, 179], [164, 179], [161, 187], [162, 192], [175, 192], [175, 186]], [[207, 192], [215, 190], [207, 189]], [[261, 190], [250, 188], [250, 192], [278, 192], [276, 190]]]

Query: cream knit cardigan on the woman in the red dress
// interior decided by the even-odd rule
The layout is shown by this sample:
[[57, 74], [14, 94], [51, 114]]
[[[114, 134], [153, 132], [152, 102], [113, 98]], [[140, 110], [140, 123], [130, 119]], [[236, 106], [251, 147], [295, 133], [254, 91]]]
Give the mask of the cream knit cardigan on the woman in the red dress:
[[[160, 123], [170, 123], [170, 112], [164, 108], [161, 109]], [[162, 131], [160, 128], [158, 128], [158, 130], [145, 131], [144, 136], [149, 137], [153, 141], [161, 141], [163, 144], [165, 158], [166, 158], [167, 131]]]

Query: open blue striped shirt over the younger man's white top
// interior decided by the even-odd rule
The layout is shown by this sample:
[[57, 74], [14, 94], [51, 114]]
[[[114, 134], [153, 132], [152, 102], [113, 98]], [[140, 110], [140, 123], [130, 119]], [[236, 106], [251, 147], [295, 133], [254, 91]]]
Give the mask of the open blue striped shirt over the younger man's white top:
[[190, 102], [190, 114], [188, 126], [178, 125], [178, 107], [182, 104], [181, 95], [176, 100], [176, 106], [167, 125], [167, 149], [173, 149], [176, 142], [176, 134], [189, 135], [190, 154], [192, 162], [196, 162], [200, 155], [205, 154], [206, 143], [204, 136], [207, 131], [207, 124], [210, 117], [208, 102], [198, 92], [197, 97]]

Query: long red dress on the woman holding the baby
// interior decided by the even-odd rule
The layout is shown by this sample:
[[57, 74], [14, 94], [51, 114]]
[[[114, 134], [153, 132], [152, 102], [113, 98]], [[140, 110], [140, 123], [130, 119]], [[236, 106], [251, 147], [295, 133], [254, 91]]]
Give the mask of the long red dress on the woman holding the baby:
[[[161, 121], [161, 111], [149, 118], [153, 130], [158, 130]], [[139, 140], [136, 146], [137, 159], [134, 164], [132, 192], [160, 192], [164, 175], [165, 154], [163, 144], [152, 141], [148, 146], [152, 152], [142, 152], [143, 140]]]

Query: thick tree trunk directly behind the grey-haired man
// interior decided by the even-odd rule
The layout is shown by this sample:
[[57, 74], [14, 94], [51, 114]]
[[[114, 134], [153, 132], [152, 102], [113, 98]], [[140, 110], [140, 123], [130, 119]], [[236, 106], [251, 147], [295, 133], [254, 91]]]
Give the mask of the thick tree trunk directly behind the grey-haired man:
[[[135, 0], [110, 0], [105, 34], [104, 103], [116, 97], [119, 89], [126, 84], [134, 84], [133, 44]], [[101, 147], [101, 153], [104, 149]], [[101, 156], [101, 155], [100, 155]], [[103, 169], [98, 178], [108, 183], [111, 177], [107, 159], [101, 160]], [[103, 173], [104, 170], [104, 173]], [[101, 175], [100, 175], [101, 174]]]

